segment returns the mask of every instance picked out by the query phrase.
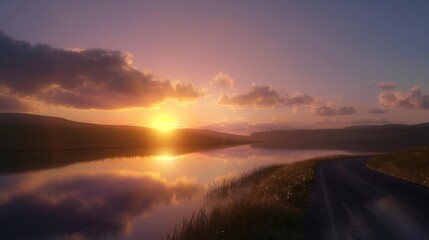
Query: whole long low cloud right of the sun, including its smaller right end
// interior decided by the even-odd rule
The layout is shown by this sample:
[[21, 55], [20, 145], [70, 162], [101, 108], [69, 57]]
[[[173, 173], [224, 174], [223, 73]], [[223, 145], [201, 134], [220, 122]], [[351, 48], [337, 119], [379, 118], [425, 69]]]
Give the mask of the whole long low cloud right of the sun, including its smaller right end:
[[223, 94], [218, 104], [231, 107], [249, 106], [253, 108], [267, 108], [275, 105], [298, 106], [310, 105], [315, 99], [304, 93], [294, 93], [292, 95], [281, 96], [280, 93], [270, 86], [253, 85], [248, 93], [241, 93], [229, 96]]

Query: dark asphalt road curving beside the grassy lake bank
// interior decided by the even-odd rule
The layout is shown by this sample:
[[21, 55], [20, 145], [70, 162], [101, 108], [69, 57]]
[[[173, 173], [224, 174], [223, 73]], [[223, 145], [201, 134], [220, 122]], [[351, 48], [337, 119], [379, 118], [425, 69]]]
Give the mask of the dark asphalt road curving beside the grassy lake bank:
[[377, 173], [366, 161], [316, 169], [310, 239], [429, 239], [429, 188]]

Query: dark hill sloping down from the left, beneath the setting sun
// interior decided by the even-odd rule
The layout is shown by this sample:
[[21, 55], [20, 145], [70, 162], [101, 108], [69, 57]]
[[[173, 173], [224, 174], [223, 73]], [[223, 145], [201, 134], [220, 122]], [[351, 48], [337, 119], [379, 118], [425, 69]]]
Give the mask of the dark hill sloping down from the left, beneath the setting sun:
[[137, 126], [99, 125], [58, 117], [0, 113], [0, 152], [159, 146], [230, 145], [249, 137], [206, 130], [171, 133]]

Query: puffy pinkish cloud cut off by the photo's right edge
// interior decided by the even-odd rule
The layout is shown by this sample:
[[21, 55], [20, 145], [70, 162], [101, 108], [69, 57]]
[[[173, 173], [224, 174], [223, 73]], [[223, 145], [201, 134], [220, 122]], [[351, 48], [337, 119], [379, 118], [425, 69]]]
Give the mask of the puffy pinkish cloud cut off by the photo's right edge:
[[385, 108], [429, 109], [429, 95], [423, 95], [419, 86], [409, 92], [383, 91], [378, 95], [378, 103]]

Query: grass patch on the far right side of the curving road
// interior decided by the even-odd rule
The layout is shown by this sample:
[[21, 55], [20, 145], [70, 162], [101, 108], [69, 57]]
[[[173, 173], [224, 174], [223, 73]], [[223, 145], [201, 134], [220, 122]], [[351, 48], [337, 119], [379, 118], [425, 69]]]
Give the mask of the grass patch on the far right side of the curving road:
[[367, 166], [386, 175], [429, 187], [429, 148], [376, 156]]

